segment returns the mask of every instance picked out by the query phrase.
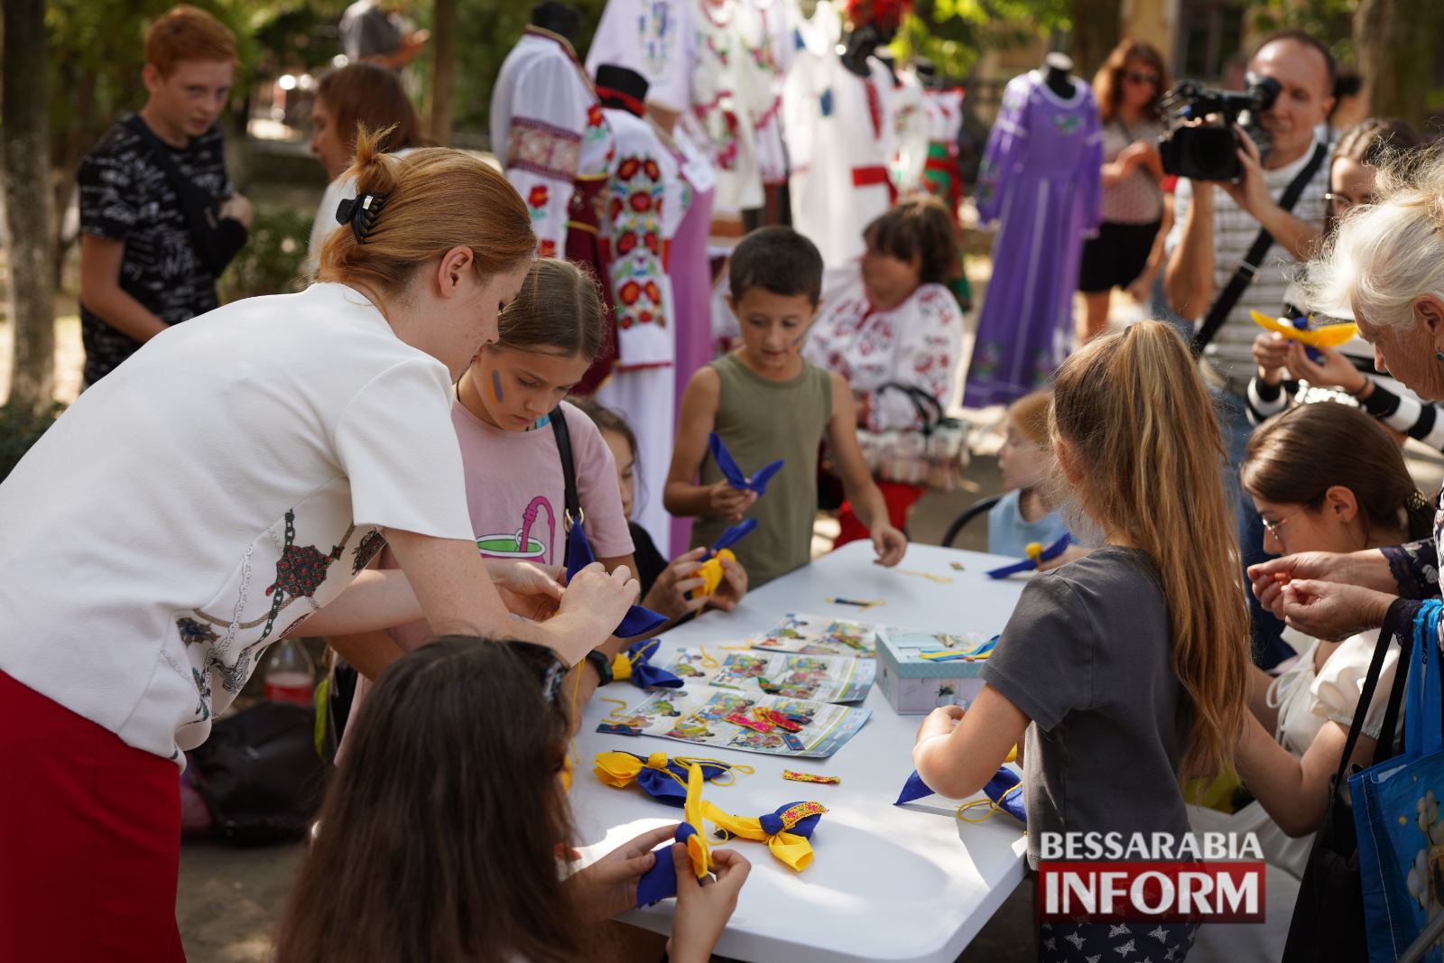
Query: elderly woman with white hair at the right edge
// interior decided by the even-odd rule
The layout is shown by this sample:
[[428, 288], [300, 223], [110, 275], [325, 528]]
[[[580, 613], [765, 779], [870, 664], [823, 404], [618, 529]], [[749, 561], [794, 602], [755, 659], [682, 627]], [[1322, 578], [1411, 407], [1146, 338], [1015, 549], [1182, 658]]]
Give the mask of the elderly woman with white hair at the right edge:
[[[1344, 217], [1331, 244], [1308, 266], [1310, 305], [1349, 313], [1373, 345], [1375, 367], [1425, 401], [1444, 401], [1444, 152], [1395, 162], [1376, 201]], [[1418, 492], [1411, 500], [1418, 502]], [[1402, 507], [1402, 505], [1401, 505]], [[1259, 602], [1318, 638], [1346, 638], [1383, 624], [1405, 599], [1401, 632], [1437, 621], [1424, 601], [1440, 596], [1434, 540], [1353, 552], [1302, 552], [1249, 569]], [[1421, 625], [1438, 634], [1438, 625]]]

